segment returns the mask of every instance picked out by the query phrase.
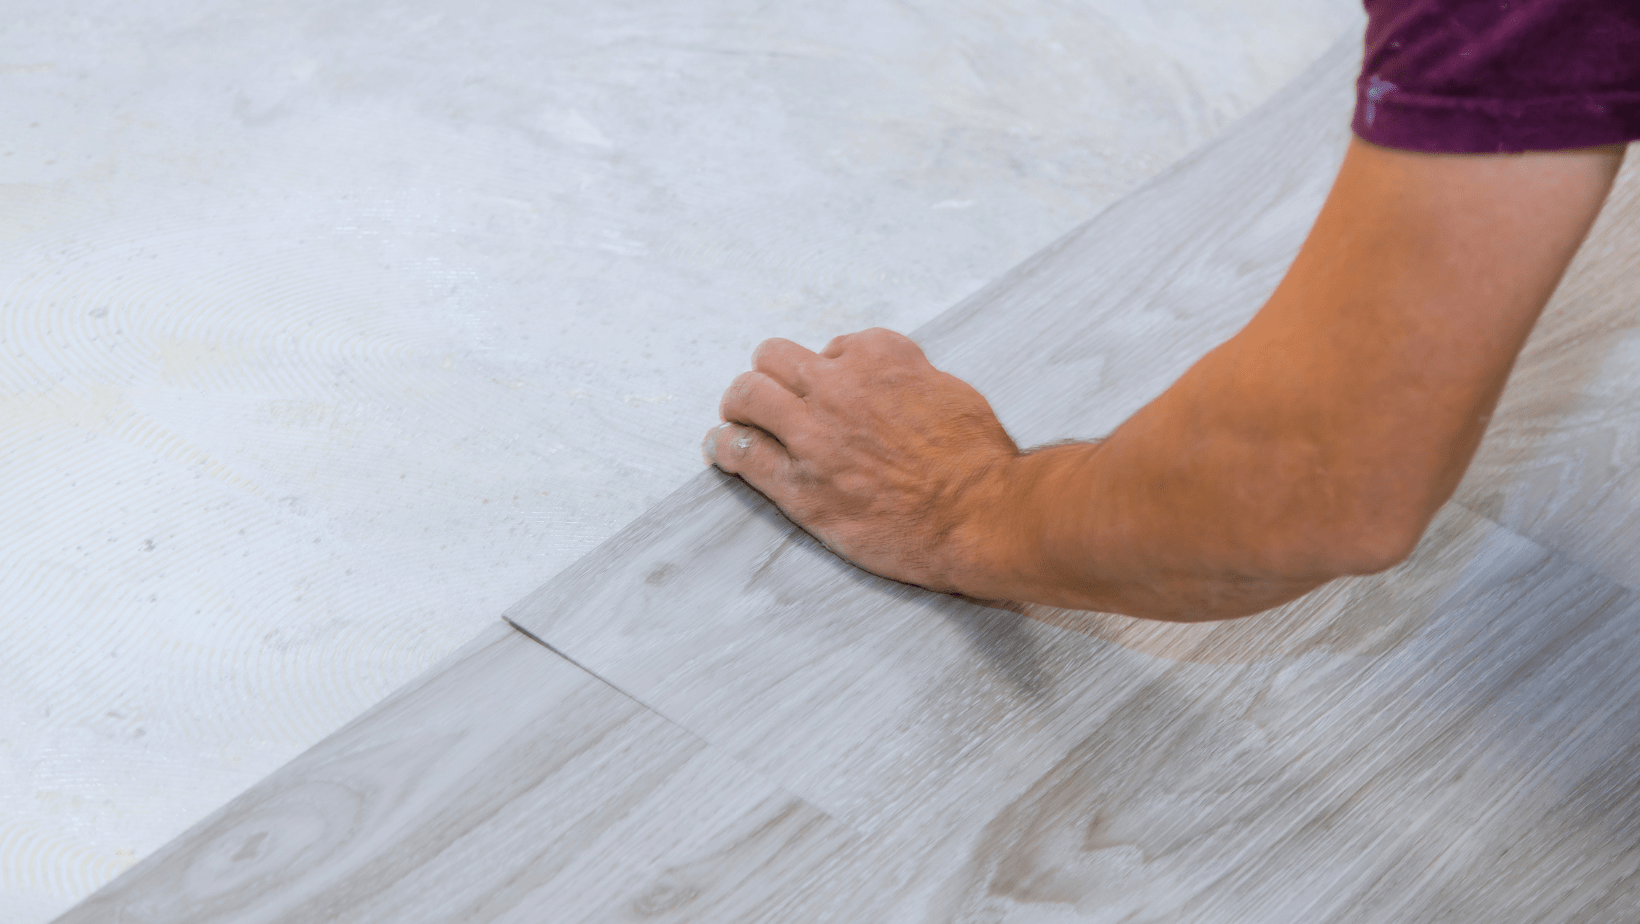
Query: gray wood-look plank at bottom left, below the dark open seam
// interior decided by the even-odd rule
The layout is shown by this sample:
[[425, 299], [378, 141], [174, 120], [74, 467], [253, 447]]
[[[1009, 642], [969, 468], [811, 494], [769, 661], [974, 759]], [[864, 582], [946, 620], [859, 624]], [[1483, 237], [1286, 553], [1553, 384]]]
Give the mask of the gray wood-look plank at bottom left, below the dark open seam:
[[59, 921], [779, 919], [850, 837], [499, 624]]

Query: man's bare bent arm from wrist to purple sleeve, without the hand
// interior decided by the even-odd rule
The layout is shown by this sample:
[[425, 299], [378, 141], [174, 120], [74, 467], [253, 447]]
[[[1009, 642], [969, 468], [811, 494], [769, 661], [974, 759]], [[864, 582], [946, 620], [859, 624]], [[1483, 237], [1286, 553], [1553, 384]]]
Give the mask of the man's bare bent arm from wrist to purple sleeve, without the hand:
[[1617, 158], [1358, 143], [1243, 332], [1104, 443], [1007, 466], [959, 569], [987, 586], [964, 592], [1223, 619], [1394, 565], [1456, 487]]

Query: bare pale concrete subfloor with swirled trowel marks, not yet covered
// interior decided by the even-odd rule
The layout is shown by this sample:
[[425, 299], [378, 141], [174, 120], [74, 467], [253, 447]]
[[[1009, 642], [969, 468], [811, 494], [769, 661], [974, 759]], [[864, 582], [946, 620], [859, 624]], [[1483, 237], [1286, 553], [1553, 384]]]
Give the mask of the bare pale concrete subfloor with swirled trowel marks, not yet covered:
[[0, 16], [0, 922], [61, 913], [910, 330], [1351, 0]]

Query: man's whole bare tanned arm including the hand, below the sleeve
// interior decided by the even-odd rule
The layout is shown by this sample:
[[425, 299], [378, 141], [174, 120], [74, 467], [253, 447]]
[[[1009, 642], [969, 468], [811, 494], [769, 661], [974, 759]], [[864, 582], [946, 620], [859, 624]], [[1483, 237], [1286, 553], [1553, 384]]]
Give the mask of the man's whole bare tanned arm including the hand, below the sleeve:
[[886, 578], [1255, 614], [1412, 551], [1620, 161], [1355, 140], [1269, 302], [1099, 443], [1022, 453], [979, 392], [877, 328], [764, 341], [705, 456]]

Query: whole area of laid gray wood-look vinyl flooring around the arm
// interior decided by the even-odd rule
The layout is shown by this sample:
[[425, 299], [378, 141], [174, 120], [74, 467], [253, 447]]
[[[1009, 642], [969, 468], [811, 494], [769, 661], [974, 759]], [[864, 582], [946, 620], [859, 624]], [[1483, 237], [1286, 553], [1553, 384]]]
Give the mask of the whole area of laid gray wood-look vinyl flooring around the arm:
[[[935, 363], [1022, 443], [1166, 387], [1296, 253], [1351, 44], [920, 330]], [[1637, 199], [1630, 162], [1391, 573], [1228, 624], [991, 609], [705, 473], [62, 921], [1635, 919]]]

